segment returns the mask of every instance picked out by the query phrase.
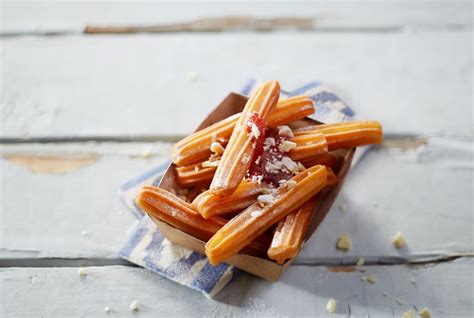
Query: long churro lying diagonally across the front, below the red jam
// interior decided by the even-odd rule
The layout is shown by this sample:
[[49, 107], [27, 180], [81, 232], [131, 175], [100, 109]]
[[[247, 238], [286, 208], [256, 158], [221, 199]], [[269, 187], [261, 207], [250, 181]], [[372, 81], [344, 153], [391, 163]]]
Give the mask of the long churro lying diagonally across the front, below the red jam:
[[[314, 166], [296, 175], [286, 185], [280, 186], [273, 202], [261, 207], [257, 202], [230, 220], [206, 244], [206, 255], [216, 265], [237, 254], [254, 238], [273, 224], [298, 209], [304, 202], [321, 191], [327, 182], [324, 166]], [[267, 198], [268, 202], [268, 198]]]

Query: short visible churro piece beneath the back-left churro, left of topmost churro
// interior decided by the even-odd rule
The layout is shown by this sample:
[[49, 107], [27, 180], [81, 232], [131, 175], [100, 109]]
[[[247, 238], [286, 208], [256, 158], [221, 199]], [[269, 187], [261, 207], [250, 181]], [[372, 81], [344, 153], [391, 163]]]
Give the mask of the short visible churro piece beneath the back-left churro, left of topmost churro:
[[176, 179], [182, 187], [210, 182], [217, 169], [217, 161], [204, 161], [176, 167]]

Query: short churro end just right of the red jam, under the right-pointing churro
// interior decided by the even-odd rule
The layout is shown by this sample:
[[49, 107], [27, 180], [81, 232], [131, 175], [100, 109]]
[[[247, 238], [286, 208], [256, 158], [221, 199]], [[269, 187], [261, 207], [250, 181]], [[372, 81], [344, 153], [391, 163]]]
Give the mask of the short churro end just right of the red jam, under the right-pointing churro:
[[291, 159], [299, 161], [308, 156], [316, 156], [328, 152], [328, 144], [319, 132], [301, 134], [291, 138], [296, 147], [290, 150]]

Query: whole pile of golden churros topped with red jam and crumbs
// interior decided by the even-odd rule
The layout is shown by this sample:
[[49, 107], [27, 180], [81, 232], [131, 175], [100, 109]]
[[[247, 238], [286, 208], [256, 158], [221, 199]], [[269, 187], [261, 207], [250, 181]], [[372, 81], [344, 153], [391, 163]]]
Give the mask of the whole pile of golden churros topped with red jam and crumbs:
[[176, 143], [172, 169], [181, 189], [141, 189], [148, 214], [207, 242], [216, 265], [244, 253], [280, 264], [302, 248], [321, 195], [338, 183], [341, 149], [377, 144], [376, 121], [316, 124], [307, 96], [280, 99], [258, 86], [241, 113]]

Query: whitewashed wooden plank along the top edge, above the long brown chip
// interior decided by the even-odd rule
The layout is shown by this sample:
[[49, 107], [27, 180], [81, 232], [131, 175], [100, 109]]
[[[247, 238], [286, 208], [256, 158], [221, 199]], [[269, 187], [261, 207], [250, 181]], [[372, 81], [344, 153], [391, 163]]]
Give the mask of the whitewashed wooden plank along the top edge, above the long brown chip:
[[[305, 17], [313, 30], [463, 28], [472, 24], [469, 1], [4, 1], [2, 32], [82, 32], [87, 24], [160, 25], [208, 17]], [[225, 24], [224, 24], [225, 26]]]

